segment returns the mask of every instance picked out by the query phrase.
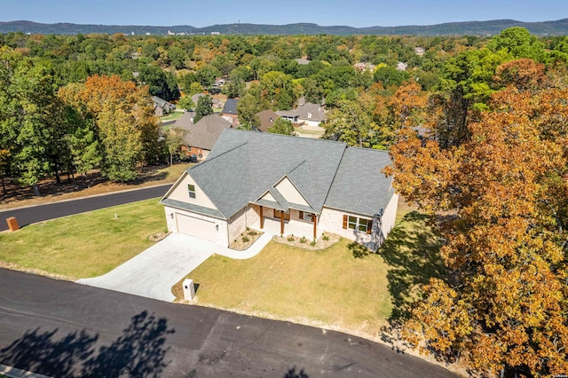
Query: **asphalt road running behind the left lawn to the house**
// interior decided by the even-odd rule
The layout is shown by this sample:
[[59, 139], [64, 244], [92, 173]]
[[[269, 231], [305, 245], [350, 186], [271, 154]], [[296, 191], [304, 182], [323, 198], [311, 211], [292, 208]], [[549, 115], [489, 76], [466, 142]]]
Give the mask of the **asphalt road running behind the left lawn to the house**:
[[16, 217], [20, 227], [23, 227], [27, 224], [84, 213], [85, 211], [110, 208], [111, 206], [122, 205], [123, 203], [162, 197], [170, 187], [171, 184], [167, 184], [73, 201], [61, 201], [29, 208], [5, 210], [0, 212], [0, 231], [8, 230], [8, 224], [5, 221], [8, 217]]

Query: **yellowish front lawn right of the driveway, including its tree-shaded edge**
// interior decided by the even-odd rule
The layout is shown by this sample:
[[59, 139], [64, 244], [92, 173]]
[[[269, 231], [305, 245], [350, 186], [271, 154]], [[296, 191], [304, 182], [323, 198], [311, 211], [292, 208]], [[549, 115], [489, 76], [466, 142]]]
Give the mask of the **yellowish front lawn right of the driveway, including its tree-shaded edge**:
[[436, 237], [424, 222], [401, 209], [378, 254], [351, 240], [321, 251], [271, 241], [248, 260], [212, 256], [187, 277], [201, 305], [375, 337], [404, 315], [416, 285], [438, 274]]

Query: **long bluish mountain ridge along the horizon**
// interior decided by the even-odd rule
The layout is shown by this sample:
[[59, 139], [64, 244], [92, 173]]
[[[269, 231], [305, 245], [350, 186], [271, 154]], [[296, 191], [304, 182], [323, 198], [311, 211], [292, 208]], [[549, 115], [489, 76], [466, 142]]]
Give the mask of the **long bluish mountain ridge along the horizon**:
[[568, 35], [568, 19], [524, 22], [518, 20], [487, 20], [446, 22], [434, 25], [405, 25], [397, 27], [354, 28], [344, 25], [320, 26], [309, 22], [285, 25], [270, 24], [216, 24], [203, 28], [190, 25], [143, 26], [143, 25], [103, 25], [75, 24], [59, 22], [43, 24], [29, 20], [0, 21], [0, 33], [23, 32], [30, 34], [114, 34], [167, 35], [184, 33], [186, 35], [496, 35], [512, 27], [527, 28], [533, 35]]

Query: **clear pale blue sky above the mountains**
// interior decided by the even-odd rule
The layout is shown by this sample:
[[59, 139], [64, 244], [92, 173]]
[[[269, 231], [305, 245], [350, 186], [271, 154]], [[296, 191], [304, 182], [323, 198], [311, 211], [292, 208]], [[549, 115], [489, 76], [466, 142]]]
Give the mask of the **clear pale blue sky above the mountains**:
[[568, 18], [567, 0], [0, 0], [0, 21], [197, 28], [239, 20], [254, 24], [312, 22], [360, 28], [564, 18]]

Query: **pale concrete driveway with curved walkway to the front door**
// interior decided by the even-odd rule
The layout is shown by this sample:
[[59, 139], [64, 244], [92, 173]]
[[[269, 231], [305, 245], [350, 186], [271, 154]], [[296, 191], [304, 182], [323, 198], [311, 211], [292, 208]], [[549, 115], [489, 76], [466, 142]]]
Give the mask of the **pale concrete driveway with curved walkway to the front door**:
[[250, 258], [256, 256], [271, 239], [272, 235], [264, 233], [246, 251], [235, 251], [183, 233], [170, 233], [164, 240], [132, 257], [113, 271], [76, 282], [172, 302], [176, 297], [171, 294], [171, 287], [209, 256], [216, 253], [231, 258]]

